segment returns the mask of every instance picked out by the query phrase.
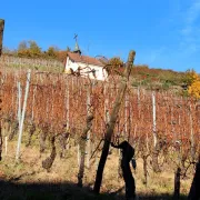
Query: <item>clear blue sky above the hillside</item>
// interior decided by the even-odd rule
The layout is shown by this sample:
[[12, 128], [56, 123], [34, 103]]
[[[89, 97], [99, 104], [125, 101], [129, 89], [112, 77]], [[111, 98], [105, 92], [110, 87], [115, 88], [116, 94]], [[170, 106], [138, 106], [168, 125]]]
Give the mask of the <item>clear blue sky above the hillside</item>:
[[134, 63], [200, 72], [200, 0], [3, 0], [4, 46], [22, 40], [73, 48], [83, 54], [121, 57]]

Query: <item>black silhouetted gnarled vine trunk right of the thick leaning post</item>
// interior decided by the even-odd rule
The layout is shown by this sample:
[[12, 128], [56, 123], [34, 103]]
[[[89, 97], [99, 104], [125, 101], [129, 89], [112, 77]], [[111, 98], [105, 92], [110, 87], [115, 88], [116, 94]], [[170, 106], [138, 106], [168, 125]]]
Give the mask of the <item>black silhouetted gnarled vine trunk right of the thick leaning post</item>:
[[[136, 199], [136, 184], [134, 178], [132, 177], [131, 169], [129, 162], [132, 160], [134, 156], [134, 149], [128, 141], [122, 141], [120, 144], [116, 146], [111, 142], [111, 147], [121, 149], [122, 159], [121, 159], [121, 169], [122, 176], [126, 183], [126, 198], [127, 200]], [[133, 161], [133, 168], [136, 169], [136, 162]]]

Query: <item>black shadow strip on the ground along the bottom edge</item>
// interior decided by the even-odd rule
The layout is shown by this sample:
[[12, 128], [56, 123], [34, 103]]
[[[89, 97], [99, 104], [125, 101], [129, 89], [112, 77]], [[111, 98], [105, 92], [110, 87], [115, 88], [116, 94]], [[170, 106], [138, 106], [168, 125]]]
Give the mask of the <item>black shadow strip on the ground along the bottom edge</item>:
[[[91, 188], [79, 188], [72, 182], [62, 183], [14, 183], [0, 180], [1, 200], [124, 200], [120, 189], [116, 192], [101, 193], [99, 196]], [[140, 194], [138, 199], [143, 200], [169, 200], [170, 194]], [[187, 199], [181, 197], [180, 199]]]

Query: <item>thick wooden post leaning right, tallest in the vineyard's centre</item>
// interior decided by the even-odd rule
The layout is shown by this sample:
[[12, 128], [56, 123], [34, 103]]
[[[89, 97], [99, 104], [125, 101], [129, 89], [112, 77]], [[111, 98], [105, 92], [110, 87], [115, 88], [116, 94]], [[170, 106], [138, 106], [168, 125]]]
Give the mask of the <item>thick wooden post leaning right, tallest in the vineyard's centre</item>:
[[118, 112], [120, 110], [120, 106], [121, 106], [121, 103], [123, 101], [123, 98], [124, 98], [127, 83], [129, 81], [129, 76], [131, 73], [131, 69], [132, 69], [133, 61], [134, 61], [134, 56], [136, 56], [134, 51], [129, 52], [129, 58], [128, 58], [128, 62], [126, 64], [126, 70], [124, 70], [124, 72], [122, 74], [122, 78], [121, 78], [119, 93], [118, 93], [118, 96], [117, 96], [117, 98], [114, 100], [113, 109], [112, 109], [111, 114], [110, 114], [110, 121], [109, 121], [107, 130], [106, 130], [104, 143], [103, 143], [101, 158], [100, 158], [97, 174], [96, 174], [96, 182], [94, 182], [94, 187], [93, 187], [93, 191], [96, 193], [100, 192], [103, 169], [104, 169], [104, 164], [106, 164], [107, 157], [108, 157], [108, 153], [109, 153], [109, 148], [110, 148], [111, 138], [112, 138], [112, 134], [113, 134], [113, 129], [114, 129], [114, 126], [116, 126], [116, 121], [117, 121], [117, 118], [118, 118]]

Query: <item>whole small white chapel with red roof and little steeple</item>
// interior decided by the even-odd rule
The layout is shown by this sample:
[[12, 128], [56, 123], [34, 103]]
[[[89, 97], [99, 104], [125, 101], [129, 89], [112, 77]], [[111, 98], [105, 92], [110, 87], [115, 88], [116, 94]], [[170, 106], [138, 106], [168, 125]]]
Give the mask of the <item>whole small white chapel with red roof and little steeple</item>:
[[108, 72], [103, 66], [96, 58], [82, 56], [76, 42], [76, 50], [67, 53], [64, 72], [104, 81], [108, 78]]

